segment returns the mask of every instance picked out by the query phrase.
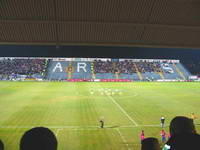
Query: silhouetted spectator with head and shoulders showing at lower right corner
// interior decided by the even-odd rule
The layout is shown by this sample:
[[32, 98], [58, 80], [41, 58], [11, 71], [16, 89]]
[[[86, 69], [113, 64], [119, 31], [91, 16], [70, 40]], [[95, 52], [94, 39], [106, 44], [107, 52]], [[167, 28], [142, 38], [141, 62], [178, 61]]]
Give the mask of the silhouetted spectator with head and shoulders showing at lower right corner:
[[197, 150], [199, 147], [200, 135], [196, 133], [193, 121], [187, 117], [172, 119], [170, 134], [163, 150]]

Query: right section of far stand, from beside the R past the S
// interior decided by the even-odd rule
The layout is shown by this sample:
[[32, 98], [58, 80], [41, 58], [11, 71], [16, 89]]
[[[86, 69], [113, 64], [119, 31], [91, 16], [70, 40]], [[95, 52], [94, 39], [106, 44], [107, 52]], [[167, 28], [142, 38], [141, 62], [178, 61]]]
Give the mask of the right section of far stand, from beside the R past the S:
[[180, 63], [161, 63], [124, 60], [112, 63], [111, 61], [95, 61], [96, 78], [114, 79], [118, 74], [120, 79], [158, 80], [158, 79], [186, 79], [190, 73]]

